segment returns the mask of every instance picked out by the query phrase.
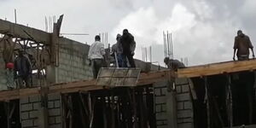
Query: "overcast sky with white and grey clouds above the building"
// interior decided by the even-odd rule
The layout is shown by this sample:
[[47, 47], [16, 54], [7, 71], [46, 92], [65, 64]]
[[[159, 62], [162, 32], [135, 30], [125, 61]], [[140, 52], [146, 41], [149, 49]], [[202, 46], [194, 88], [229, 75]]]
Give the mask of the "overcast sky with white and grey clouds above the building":
[[99, 32], [108, 42], [127, 28], [142, 47], [152, 46], [153, 61], [164, 58], [162, 32], [172, 32], [174, 58], [189, 58], [189, 65], [230, 61], [236, 32], [241, 29], [255, 45], [255, 0], [0, 0], [0, 18], [45, 30], [45, 16], [64, 14], [61, 32], [91, 44]]

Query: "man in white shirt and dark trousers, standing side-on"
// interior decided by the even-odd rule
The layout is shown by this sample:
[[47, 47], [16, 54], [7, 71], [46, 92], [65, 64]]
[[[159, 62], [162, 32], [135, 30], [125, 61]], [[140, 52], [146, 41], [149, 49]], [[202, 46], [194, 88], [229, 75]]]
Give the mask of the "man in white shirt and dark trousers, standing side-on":
[[99, 35], [96, 35], [95, 43], [90, 45], [88, 53], [88, 59], [90, 60], [94, 79], [97, 78], [101, 67], [103, 67], [105, 54], [106, 52], [104, 49], [104, 44], [101, 43], [101, 37]]

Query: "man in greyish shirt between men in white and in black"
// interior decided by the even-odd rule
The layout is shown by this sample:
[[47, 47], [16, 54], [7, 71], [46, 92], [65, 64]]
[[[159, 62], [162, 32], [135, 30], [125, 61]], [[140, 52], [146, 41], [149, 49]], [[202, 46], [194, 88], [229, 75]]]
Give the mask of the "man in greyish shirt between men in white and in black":
[[116, 67], [122, 67], [123, 65], [123, 48], [119, 41], [120, 38], [121, 38], [121, 35], [117, 34], [116, 44], [113, 44], [112, 46], [113, 57], [115, 59]]

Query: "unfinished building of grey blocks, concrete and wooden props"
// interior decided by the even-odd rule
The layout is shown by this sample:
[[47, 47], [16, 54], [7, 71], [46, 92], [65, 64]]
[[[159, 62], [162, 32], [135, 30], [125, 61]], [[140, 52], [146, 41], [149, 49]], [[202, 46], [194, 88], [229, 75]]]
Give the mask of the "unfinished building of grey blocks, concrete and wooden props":
[[[2, 127], [215, 128], [256, 124], [255, 60], [177, 72], [136, 61], [142, 71], [136, 84], [99, 85], [91, 79], [86, 59], [89, 46], [60, 37], [61, 20], [62, 16], [53, 33], [0, 20]], [[13, 61], [17, 49], [26, 49], [31, 55], [33, 86], [9, 90], [14, 85], [5, 64]], [[110, 69], [125, 70], [123, 75], [133, 72]], [[119, 75], [112, 72], [107, 76]]]

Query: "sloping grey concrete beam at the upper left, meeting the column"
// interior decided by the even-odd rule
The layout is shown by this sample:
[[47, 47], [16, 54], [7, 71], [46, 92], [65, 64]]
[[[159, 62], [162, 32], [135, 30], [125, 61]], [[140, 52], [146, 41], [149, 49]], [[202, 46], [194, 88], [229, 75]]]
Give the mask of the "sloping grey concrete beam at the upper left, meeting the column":
[[[36, 42], [49, 44], [51, 34], [32, 27], [18, 25], [7, 20], [0, 19], [0, 33], [8, 34], [14, 38], [24, 38]], [[29, 36], [30, 35], [30, 36]]]

